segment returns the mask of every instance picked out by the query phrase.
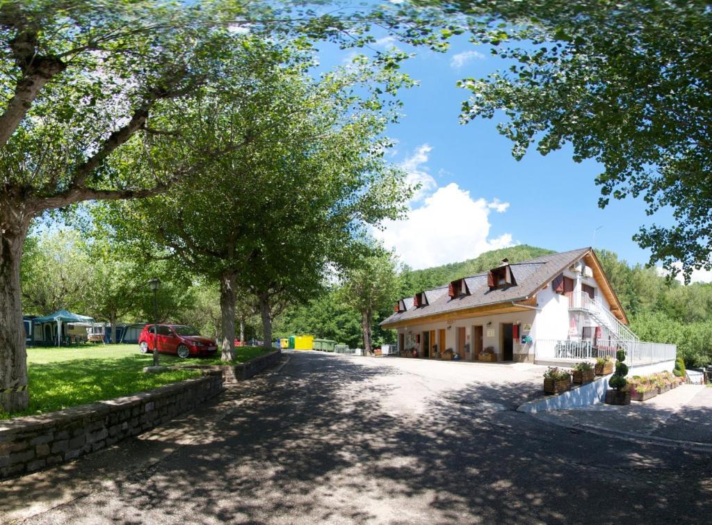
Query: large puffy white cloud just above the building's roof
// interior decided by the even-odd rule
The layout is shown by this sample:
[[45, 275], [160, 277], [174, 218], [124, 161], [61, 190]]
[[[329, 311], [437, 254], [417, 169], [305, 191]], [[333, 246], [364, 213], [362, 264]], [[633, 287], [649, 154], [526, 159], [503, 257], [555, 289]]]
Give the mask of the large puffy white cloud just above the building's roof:
[[[496, 201], [506, 209], [507, 203]], [[488, 239], [493, 208], [486, 199], [473, 199], [470, 192], [451, 182], [427, 197], [422, 207], [412, 209], [402, 221], [387, 221], [374, 232], [404, 263], [414, 269], [472, 259], [484, 251], [513, 246], [511, 234]], [[498, 210], [499, 211], [499, 210]]]

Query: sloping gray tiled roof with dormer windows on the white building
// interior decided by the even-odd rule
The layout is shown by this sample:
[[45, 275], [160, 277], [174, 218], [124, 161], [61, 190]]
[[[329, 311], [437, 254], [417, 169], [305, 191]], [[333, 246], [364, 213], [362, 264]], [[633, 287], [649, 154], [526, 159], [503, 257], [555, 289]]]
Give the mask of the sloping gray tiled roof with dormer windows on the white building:
[[560, 254], [551, 254], [510, 264], [515, 286], [490, 290], [487, 286], [487, 272], [475, 276], [465, 277], [470, 295], [450, 298], [447, 294], [448, 285], [439, 286], [433, 290], [426, 290], [428, 304], [413, 307], [413, 298], [404, 298], [406, 311], [394, 313], [381, 324], [397, 323], [424, 316], [431, 316], [436, 313], [461, 310], [464, 308], [474, 308], [476, 306], [486, 306], [488, 304], [508, 303], [519, 299], [530, 297], [543, 284], [551, 281], [562, 270], [568, 268], [581, 259], [590, 248], [581, 248], [571, 251], [562, 251]]

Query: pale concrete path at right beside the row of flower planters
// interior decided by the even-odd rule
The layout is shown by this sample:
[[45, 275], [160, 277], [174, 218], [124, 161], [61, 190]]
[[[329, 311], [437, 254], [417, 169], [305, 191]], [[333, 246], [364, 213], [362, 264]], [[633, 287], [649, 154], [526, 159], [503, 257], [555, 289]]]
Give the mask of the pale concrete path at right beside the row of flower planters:
[[567, 427], [596, 427], [673, 440], [712, 443], [712, 388], [682, 385], [627, 406], [598, 403], [572, 410], [538, 412], [539, 420]]

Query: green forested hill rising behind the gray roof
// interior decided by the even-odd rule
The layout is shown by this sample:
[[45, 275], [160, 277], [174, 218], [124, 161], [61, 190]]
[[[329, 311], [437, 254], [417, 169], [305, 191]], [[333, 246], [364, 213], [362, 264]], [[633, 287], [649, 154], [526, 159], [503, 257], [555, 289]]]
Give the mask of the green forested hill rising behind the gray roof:
[[423, 270], [406, 269], [402, 274], [403, 296], [412, 296], [419, 291], [434, 289], [461, 277], [480, 274], [499, 266], [502, 259], [505, 258], [509, 259], [511, 263], [518, 263], [553, 253], [555, 253], [553, 250], [520, 244], [511, 248], [486, 251], [475, 259], [467, 261], [433, 266]]

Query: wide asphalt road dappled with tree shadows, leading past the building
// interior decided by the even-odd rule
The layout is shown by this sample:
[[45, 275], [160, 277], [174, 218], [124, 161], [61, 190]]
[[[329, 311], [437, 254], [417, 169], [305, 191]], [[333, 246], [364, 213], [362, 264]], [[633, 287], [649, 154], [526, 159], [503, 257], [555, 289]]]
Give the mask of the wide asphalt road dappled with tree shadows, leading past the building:
[[712, 521], [712, 455], [572, 433], [498, 402], [508, 385], [434, 368], [457, 363], [289, 358], [165, 429], [4, 484], [0, 511], [33, 524]]

